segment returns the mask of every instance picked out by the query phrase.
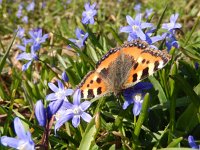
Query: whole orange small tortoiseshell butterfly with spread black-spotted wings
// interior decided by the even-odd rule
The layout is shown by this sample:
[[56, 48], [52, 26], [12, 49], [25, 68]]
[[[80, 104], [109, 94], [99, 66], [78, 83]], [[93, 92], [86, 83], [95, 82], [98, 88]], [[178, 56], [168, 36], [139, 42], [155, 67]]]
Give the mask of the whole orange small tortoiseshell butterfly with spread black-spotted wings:
[[155, 50], [146, 42], [134, 40], [109, 50], [81, 81], [81, 97], [99, 98], [114, 93], [118, 95], [155, 71], [171, 59], [165, 51]]

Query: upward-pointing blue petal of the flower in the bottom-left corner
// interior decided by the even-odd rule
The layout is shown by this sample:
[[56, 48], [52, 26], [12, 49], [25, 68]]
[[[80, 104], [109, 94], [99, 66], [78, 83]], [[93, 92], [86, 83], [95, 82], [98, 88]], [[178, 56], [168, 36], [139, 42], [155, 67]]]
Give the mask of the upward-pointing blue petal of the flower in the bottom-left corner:
[[18, 117], [14, 119], [14, 128], [15, 133], [19, 138], [26, 139], [26, 131], [24, 129], [24, 126], [22, 125], [21, 120]]

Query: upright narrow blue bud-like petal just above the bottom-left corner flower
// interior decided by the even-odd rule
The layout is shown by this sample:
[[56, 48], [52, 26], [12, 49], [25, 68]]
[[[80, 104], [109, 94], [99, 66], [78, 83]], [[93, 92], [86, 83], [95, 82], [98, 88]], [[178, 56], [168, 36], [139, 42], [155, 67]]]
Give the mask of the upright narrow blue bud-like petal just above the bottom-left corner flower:
[[35, 116], [38, 120], [38, 123], [40, 126], [45, 127], [46, 126], [46, 109], [44, 108], [44, 105], [41, 100], [37, 101], [35, 105]]

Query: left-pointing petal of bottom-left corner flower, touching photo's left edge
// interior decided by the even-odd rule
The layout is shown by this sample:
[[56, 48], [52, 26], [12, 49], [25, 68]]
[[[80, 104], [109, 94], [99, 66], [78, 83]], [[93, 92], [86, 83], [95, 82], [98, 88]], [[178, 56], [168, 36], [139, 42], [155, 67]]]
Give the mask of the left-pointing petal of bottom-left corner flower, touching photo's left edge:
[[12, 148], [17, 148], [18, 145], [19, 145], [19, 142], [20, 142], [19, 139], [7, 137], [7, 136], [2, 136], [1, 137], [1, 144], [3, 144], [4, 146], [9, 146], [9, 147], [12, 147]]

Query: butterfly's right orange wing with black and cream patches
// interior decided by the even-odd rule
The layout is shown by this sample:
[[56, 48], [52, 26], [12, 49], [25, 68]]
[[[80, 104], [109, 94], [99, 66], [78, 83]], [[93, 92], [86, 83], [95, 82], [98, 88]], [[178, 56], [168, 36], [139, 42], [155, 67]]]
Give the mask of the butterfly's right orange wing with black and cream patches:
[[124, 89], [135, 85], [163, 68], [171, 59], [167, 52], [153, 49], [146, 42], [135, 41], [134, 44], [129, 43], [127, 48], [122, 49], [124, 54], [132, 56], [135, 60], [123, 85]]

